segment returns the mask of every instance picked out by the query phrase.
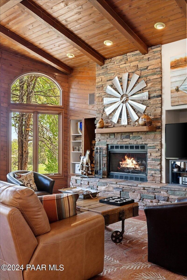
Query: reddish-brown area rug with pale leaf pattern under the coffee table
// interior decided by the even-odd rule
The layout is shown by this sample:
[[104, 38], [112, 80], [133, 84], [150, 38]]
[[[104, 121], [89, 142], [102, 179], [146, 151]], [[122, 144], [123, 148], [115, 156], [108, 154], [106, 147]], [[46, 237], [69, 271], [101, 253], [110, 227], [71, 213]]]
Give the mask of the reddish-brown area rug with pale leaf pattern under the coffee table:
[[186, 276], [148, 262], [146, 222], [131, 218], [125, 220], [120, 244], [111, 240], [114, 230], [121, 231], [121, 222], [105, 227], [104, 270], [91, 280], [187, 280]]

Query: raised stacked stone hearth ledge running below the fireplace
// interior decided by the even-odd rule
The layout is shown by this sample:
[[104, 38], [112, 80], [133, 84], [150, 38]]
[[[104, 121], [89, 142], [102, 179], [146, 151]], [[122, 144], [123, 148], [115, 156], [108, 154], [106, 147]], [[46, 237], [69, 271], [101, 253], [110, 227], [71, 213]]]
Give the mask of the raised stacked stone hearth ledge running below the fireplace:
[[70, 187], [80, 187], [100, 191], [100, 196], [119, 196], [133, 198], [139, 209], [145, 205], [175, 202], [177, 197], [187, 196], [187, 185], [168, 185], [165, 183], [139, 182], [112, 178], [72, 176]]

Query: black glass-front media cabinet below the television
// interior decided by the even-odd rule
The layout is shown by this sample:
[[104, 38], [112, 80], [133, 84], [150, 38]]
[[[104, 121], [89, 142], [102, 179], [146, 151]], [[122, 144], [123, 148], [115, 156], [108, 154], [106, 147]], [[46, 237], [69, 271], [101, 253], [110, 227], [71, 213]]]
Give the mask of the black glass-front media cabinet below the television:
[[169, 184], [187, 187], [187, 159], [169, 160]]

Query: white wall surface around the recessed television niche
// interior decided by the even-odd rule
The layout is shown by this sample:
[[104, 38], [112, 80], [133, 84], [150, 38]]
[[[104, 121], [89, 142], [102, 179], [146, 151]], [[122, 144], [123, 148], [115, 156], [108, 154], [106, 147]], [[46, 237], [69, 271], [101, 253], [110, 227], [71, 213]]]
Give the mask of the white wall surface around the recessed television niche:
[[169, 182], [169, 160], [165, 159], [165, 124], [187, 122], [187, 105], [171, 106], [170, 57], [187, 52], [187, 39], [162, 45], [162, 183]]

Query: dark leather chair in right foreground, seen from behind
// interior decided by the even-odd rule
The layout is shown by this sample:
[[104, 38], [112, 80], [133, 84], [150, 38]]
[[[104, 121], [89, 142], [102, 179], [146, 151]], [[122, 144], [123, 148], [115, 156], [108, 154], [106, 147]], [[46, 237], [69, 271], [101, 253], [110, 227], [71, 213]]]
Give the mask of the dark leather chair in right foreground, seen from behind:
[[187, 197], [176, 203], [146, 205], [148, 261], [187, 275]]

